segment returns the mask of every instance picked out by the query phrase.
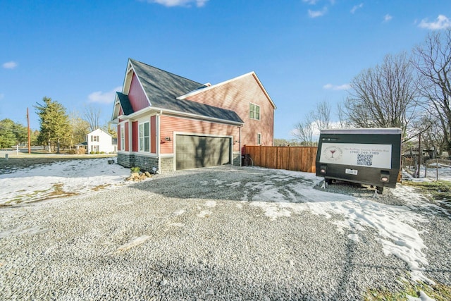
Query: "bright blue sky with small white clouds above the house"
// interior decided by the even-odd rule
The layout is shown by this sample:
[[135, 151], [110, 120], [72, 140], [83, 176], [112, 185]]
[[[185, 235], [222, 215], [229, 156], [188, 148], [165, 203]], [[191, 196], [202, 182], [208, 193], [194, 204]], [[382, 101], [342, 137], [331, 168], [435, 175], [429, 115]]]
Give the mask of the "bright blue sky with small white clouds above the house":
[[26, 125], [28, 107], [39, 129], [46, 96], [106, 123], [130, 57], [212, 84], [255, 71], [292, 139], [359, 72], [450, 25], [449, 0], [0, 0], [0, 120]]

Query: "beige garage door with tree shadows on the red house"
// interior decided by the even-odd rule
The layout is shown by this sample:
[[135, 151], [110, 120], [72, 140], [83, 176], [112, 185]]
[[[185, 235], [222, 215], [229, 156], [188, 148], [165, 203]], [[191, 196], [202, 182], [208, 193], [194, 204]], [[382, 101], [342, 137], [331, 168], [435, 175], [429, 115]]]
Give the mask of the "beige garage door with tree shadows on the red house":
[[230, 164], [230, 138], [175, 136], [176, 169]]

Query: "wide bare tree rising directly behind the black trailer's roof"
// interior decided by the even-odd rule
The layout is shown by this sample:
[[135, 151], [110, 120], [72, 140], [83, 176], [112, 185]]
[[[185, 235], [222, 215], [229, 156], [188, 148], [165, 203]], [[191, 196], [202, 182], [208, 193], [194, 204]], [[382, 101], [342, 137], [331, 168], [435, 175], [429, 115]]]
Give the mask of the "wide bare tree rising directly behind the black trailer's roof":
[[419, 97], [418, 80], [405, 53], [387, 55], [381, 66], [362, 71], [351, 82], [347, 119], [362, 128], [401, 128], [405, 135]]

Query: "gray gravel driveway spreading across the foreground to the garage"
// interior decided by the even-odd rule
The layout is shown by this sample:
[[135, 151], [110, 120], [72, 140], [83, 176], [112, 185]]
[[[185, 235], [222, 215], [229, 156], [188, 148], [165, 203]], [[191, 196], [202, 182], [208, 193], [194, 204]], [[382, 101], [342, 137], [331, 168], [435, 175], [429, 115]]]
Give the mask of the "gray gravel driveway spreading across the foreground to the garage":
[[[296, 187], [317, 182], [222, 166], [0, 209], [0, 299], [362, 300], [402, 290], [412, 266], [384, 253], [378, 228], [356, 226], [350, 239], [355, 229], [338, 227], [345, 216], [309, 209], [315, 191], [330, 192]], [[378, 200], [344, 189], [412, 211], [424, 275], [451, 285], [450, 216], [390, 189]]]

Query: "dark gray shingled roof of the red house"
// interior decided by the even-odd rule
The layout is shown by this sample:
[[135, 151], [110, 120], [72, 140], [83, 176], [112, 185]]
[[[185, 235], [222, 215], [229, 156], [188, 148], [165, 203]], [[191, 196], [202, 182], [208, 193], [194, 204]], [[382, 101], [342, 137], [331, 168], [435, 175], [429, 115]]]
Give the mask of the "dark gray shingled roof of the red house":
[[[192, 102], [190, 100], [176, 99], [193, 90], [204, 88], [206, 87], [205, 85], [169, 73], [165, 70], [149, 66], [140, 61], [135, 61], [134, 59], [130, 59], [130, 62], [132, 63], [135, 73], [140, 79], [144, 92], [147, 94], [152, 106], [159, 109], [192, 113], [210, 118], [243, 123], [242, 119], [235, 111], [222, 109], [217, 106], [209, 106], [208, 104], [200, 104], [199, 102]], [[121, 97], [119, 97], [119, 100], [121, 101]], [[130, 105], [130, 101], [128, 101], [128, 104]], [[123, 110], [125, 113], [124, 107]]]

